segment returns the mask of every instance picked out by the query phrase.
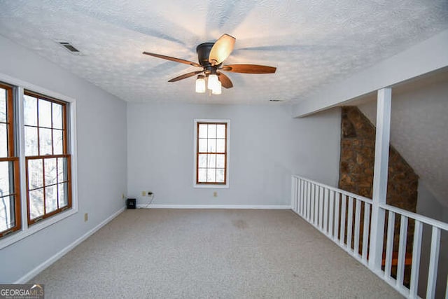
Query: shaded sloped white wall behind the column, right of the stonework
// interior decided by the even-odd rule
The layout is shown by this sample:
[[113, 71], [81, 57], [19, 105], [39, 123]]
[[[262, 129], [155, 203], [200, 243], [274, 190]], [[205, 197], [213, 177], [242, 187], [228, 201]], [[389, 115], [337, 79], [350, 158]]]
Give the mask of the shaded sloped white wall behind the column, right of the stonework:
[[[396, 88], [400, 90], [400, 88]], [[394, 89], [395, 90], [395, 89]], [[448, 207], [448, 76], [392, 92], [391, 144]], [[375, 123], [376, 102], [358, 106]]]

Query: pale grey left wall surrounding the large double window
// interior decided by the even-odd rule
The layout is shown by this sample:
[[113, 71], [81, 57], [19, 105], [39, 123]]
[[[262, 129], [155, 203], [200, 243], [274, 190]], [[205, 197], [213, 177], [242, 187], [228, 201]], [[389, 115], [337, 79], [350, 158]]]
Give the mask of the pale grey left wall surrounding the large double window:
[[1, 36], [0, 73], [77, 105], [79, 212], [0, 249], [0, 283], [11, 283], [124, 207], [127, 123], [125, 102]]

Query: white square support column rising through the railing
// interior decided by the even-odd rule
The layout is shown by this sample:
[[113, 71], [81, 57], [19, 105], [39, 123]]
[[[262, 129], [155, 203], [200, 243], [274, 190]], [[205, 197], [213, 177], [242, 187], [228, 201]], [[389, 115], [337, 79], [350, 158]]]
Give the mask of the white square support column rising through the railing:
[[379, 208], [379, 204], [386, 204], [389, 135], [391, 129], [391, 94], [391, 88], [378, 90], [369, 258], [370, 269], [374, 272], [381, 271], [383, 254], [385, 213], [383, 209]]

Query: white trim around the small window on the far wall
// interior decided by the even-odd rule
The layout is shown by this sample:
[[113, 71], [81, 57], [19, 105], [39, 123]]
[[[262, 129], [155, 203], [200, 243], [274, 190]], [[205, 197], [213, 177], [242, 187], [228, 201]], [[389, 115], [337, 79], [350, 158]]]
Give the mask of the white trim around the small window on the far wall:
[[[199, 123], [225, 123], [227, 125], [226, 132], [226, 140], [225, 140], [225, 183], [197, 183], [197, 146], [198, 146], [198, 138], [197, 138], [197, 128]], [[194, 156], [194, 164], [193, 164], [193, 187], [194, 188], [229, 188], [229, 173], [230, 173], [230, 120], [228, 119], [204, 119], [204, 118], [195, 118], [194, 120], [194, 138], [193, 138], [193, 156]]]

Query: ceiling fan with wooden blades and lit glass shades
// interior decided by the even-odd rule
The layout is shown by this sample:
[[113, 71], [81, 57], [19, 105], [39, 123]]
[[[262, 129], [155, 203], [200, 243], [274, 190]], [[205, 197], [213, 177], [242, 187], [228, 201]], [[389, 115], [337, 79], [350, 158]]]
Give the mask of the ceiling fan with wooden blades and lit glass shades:
[[196, 48], [197, 62], [191, 62], [176, 57], [170, 57], [155, 53], [144, 52], [143, 54], [153, 57], [171, 60], [183, 64], [190, 64], [193, 67], [200, 67], [201, 70], [191, 71], [190, 73], [172, 78], [168, 82], [176, 82], [195, 75], [196, 92], [205, 92], [205, 80], [207, 79], [208, 88], [213, 94], [221, 94], [221, 86], [224, 88], [232, 88], [233, 84], [230, 78], [222, 73], [222, 71], [230, 71], [233, 73], [243, 74], [273, 74], [276, 67], [267, 67], [258, 64], [227, 64], [223, 65], [224, 60], [232, 53], [235, 46], [235, 37], [229, 34], [223, 34], [215, 43], [201, 43]]

